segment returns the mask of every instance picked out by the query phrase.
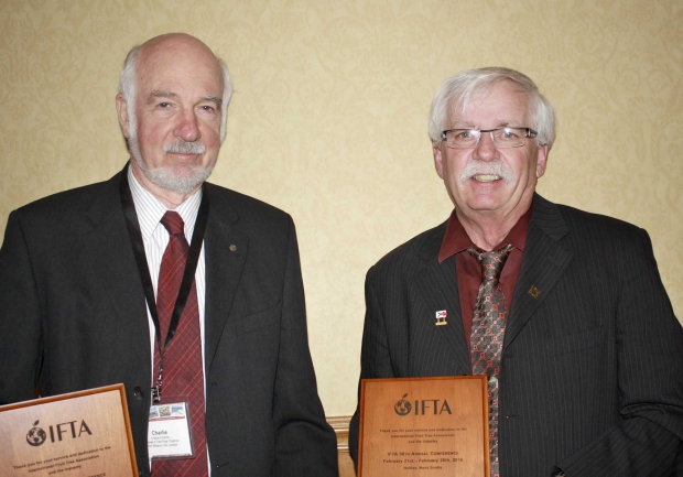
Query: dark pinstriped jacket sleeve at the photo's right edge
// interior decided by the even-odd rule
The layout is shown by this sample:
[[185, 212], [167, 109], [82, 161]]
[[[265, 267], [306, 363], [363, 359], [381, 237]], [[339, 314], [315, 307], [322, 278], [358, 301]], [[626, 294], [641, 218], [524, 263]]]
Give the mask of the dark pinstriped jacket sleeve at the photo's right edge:
[[[683, 438], [683, 332], [652, 245], [615, 249], [620, 420], [557, 467], [568, 477], [671, 475]], [[679, 458], [680, 459], [680, 458]], [[679, 475], [679, 474], [676, 474]]]

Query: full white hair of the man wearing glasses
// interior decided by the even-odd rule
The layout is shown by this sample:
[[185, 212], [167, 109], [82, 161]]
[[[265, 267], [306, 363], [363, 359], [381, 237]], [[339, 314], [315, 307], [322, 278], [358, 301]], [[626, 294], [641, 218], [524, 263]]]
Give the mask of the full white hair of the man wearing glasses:
[[441, 145], [441, 134], [447, 129], [448, 113], [467, 108], [473, 96], [479, 91], [490, 90], [497, 83], [510, 80], [520, 86], [529, 98], [531, 108], [530, 127], [538, 131], [538, 145], [551, 149], [555, 141], [555, 111], [550, 101], [539, 91], [536, 85], [527, 75], [510, 68], [488, 67], [460, 72], [446, 79], [436, 90], [430, 108], [430, 139], [432, 144]]

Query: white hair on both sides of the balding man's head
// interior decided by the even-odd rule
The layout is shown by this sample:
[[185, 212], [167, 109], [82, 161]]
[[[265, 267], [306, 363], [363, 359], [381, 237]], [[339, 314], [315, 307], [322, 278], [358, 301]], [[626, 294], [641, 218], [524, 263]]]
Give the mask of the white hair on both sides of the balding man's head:
[[[138, 89], [138, 56], [140, 55], [141, 45], [133, 46], [126, 59], [123, 61], [123, 68], [121, 69], [121, 78], [119, 79], [119, 93], [126, 101], [126, 110], [128, 112], [128, 133], [131, 137], [137, 135], [138, 118], [135, 116], [135, 94]], [[214, 55], [215, 56], [215, 55]], [[220, 143], [226, 138], [227, 130], [227, 117], [228, 117], [228, 104], [232, 96], [232, 83], [230, 82], [230, 74], [225, 62], [218, 56], [216, 62], [220, 67], [220, 74], [223, 76], [223, 97], [220, 102]]]

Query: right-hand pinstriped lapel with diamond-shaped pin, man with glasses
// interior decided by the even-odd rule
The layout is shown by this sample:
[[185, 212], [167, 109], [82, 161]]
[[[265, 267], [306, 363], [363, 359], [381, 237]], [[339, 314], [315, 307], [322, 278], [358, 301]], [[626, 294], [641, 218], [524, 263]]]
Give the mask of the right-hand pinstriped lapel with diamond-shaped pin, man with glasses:
[[567, 232], [568, 227], [557, 206], [535, 195], [506, 329], [506, 347], [519, 335], [572, 261], [572, 253], [557, 242]]

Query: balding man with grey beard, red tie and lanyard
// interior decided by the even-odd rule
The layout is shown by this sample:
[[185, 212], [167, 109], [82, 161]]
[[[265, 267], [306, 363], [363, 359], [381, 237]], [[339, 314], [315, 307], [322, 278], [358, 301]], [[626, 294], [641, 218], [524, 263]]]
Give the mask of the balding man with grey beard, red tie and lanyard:
[[[193, 36], [129, 53], [117, 110], [130, 163], [10, 214], [0, 404], [122, 382], [141, 476], [336, 476], [294, 224], [205, 182], [230, 94]], [[164, 406], [184, 432], [155, 419]], [[152, 425], [191, 452], [159, 452]]]

